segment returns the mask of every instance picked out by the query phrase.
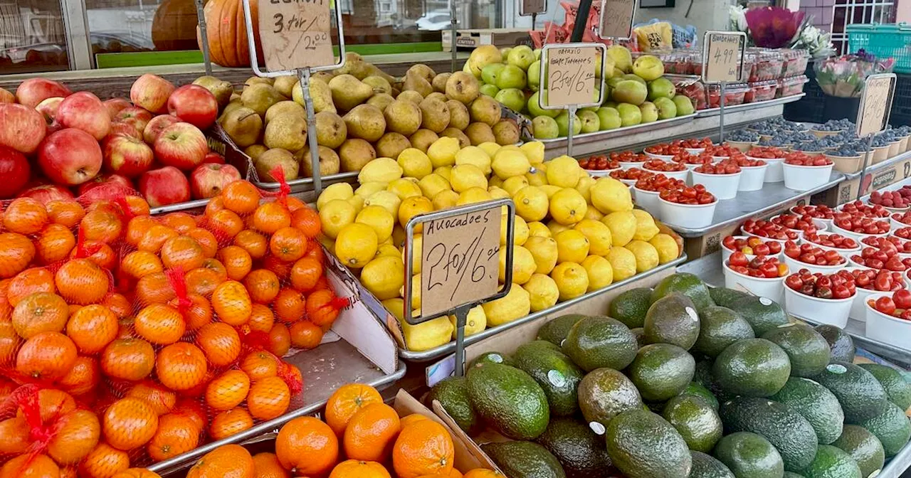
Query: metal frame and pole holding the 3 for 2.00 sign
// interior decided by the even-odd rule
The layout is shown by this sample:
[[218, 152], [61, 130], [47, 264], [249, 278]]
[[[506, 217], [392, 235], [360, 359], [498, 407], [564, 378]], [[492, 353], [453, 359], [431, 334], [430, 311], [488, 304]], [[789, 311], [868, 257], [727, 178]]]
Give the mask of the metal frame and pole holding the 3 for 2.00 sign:
[[[197, 0], [200, 1], [200, 0]], [[313, 190], [319, 195], [322, 191], [322, 178], [320, 175], [320, 148], [316, 143], [316, 113], [313, 109], [313, 98], [310, 95], [310, 76], [313, 72], [328, 71], [341, 68], [345, 63], [344, 28], [342, 25], [342, 9], [335, 5], [335, 25], [339, 36], [339, 61], [333, 65], [303, 66], [293, 70], [263, 71], [260, 69], [259, 58], [256, 57], [256, 38], [253, 35], [253, 17], [250, 13], [250, 0], [241, 0], [243, 5], [244, 23], [247, 26], [247, 41], [250, 44], [250, 65], [256, 76], [274, 78], [277, 76], [296, 75], [301, 82], [304, 107], [307, 110], [307, 146], [310, 147], [310, 164], [313, 171]], [[330, 28], [332, 27], [330, 23]], [[260, 33], [262, 35], [263, 32]], [[329, 34], [330, 38], [332, 33]]]

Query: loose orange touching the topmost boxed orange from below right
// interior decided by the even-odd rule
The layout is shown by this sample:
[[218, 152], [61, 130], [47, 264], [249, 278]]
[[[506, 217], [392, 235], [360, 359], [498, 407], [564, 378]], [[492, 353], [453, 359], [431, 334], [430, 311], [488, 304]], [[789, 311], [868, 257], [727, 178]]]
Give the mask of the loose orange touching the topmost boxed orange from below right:
[[344, 453], [354, 460], [383, 461], [401, 430], [398, 413], [392, 407], [385, 403], [367, 405], [354, 413], [344, 429]]

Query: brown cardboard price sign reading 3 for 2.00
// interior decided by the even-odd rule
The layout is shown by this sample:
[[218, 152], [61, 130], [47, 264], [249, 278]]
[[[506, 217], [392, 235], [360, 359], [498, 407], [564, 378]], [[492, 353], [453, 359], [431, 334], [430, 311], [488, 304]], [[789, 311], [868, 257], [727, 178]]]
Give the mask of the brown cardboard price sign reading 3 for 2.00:
[[329, 4], [330, 0], [259, 3], [260, 43], [270, 71], [335, 63]]

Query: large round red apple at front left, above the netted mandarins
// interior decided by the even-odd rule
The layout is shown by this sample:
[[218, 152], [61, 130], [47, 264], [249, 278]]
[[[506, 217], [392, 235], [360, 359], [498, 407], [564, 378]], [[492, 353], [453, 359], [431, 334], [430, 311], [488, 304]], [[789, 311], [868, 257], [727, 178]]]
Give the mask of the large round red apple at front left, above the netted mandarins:
[[75, 127], [57, 131], [38, 147], [38, 166], [47, 178], [66, 186], [95, 178], [101, 170], [101, 159], [101, 147], [95, 138]]

